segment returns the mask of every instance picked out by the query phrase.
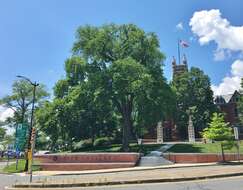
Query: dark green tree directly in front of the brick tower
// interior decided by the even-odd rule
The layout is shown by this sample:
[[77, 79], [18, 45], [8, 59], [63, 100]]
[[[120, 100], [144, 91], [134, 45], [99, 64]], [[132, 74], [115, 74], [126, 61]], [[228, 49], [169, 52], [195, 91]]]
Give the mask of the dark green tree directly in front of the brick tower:
[[190, 71], [176, 76], [172, 82], [176, 93], [177, 112], [175, 121], [181, 138], [187, 137], [188, 111], [193, 108], [193, 125], [196, 136], [207, 127], [210, 117], [216, 111], [210, 79], [202, 70], [192, 67]]

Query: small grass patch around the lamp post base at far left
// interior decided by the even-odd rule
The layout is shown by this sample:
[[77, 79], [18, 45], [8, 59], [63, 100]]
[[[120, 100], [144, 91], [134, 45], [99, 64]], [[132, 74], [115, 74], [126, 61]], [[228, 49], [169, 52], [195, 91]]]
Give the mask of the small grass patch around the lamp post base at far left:
[[[33, 164], [33, 167], [32, 167], [33, 171], [40, 170], [40, 167], [37, 164], [38, 163], [36, 163], [36, 162]], [[20, 173], [20, 172], [24, 171], [24, 166], [25, 166], [25, 160], [20, 159], [20, 160], [18, 160], [18, 169], [17, 170], [16, 170], [16, 162], [15, 162], [15, 163], [9, 164], [8, 166], [5, 166], [2, 171], [4, 173]]]

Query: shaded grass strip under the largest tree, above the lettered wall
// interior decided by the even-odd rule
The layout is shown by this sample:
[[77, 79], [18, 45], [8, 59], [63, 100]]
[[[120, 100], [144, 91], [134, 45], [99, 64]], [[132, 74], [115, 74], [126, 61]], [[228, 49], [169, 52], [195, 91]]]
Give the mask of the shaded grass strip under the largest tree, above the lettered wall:
[[[159, 149], [161, 144], [143, 144], [140, 148], [140, 146], [136, 143], [130, 144], [130, 152], [139, 152], [141, 149], [141, 153], [144, 153], [145, 155], [148, 154], [151, 151]], [[122, 150], [121, 144], [113, 144], [109, 146], [99, 146], [99, 147], [86, 147], [81, 148], [78, 151], [75, 152], [121, 152]]]

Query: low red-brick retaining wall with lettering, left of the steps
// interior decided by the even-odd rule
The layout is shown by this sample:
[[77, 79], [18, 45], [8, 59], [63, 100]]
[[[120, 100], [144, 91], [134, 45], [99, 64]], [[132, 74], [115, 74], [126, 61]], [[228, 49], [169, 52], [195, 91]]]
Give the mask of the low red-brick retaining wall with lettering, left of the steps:
[[75, 171], [127, 168], [137, 164], [139, 153], [69, 153], [37, 155], [42, 170]]

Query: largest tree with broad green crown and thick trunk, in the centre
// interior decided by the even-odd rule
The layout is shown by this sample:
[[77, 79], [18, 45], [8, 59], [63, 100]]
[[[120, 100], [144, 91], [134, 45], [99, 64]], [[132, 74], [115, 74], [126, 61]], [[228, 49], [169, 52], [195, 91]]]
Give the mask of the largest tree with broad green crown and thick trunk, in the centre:
[[168, 115], [173, 95], [163, 77], [165, 56], [154, 33], [132, 24], [84, 26], [78, 28], [72, 50], [65, 62], [66, 78], [54, 88], [55, 99], [63, 98], [61, 104], [69, 110], [63, 128], [73, 128], [80, 138], [81, 133], [97, 137], [120, 123], [123, 149], [128, 150], [136, 128]]

